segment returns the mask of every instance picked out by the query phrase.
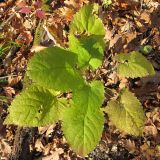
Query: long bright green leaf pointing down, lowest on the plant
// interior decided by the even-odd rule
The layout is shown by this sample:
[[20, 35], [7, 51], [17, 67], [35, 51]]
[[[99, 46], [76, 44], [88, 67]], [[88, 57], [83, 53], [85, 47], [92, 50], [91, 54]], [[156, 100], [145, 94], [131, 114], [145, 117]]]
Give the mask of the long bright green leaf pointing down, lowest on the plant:
[[73, 104], [63, 112], [62, 130], [71, 148], [86, 156], [98, 144], [104, 124], [100, 107], [104, 100], [101, 82], [92, 82], [73, 92]]

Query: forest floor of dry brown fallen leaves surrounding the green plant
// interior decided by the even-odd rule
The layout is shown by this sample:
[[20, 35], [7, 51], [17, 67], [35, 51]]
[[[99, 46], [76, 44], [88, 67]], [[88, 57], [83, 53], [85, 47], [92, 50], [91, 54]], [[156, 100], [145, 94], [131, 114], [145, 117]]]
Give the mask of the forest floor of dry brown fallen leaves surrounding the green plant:
[[[105, 0], [104, 0], [105, 1]], [[143, 137], [120, 132], [108, 120], [99, 145], [86, 158], [74, 153], [67, 144], [60, 123], [35, 128], [30, 144], [34, 160], [160, 160], [160, 1], [113, 0], [99, 3], [99, 17], [105, 25], [108, 42], [102, 67], [97, 71], [104, 85], [116, 90], [128, 83], [142, 102], [146, 114]], [[107, 2], [107, 1], [106, 1]], [[109, 2], [109, 1], [108, 1]], [[27, 63], [42, 46], [67, 46], [68, 25], [73, 15], [89, 0], [50, 0], [42, 8], [40, 1], [7, 0], [0, 2], [0, 160], [9, 159], [14, 145], [16, 126], [3, 125], [7, 108], [23, 89]], [[33, 45], [39, 21], [44, 22], [40, 43]], [[139, 50], [151, 45], [145, 55], [156, 71], [155, 76], [119, 81], [112, 70], [111, 57], [117, 53]], [[106, 95], [106, 103], [109, 97]]]

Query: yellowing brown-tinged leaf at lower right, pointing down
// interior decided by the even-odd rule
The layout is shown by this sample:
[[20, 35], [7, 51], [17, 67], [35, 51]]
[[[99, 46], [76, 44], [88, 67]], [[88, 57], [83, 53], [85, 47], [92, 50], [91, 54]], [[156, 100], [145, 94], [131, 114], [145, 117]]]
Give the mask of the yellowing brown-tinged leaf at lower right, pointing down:
[[135, 136], [142, 135], [145, 114], [139, 100], [127, 89], [119, 100], [111, 100], [105, 111], [120, 130]]

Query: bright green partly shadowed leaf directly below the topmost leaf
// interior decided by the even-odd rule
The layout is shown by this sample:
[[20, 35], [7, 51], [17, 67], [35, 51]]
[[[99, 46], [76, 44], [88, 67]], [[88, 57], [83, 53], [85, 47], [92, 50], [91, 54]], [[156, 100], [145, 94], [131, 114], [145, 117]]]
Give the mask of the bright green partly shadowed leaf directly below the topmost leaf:
[[77, 54], [79, 67], [91, 66], [96, 69], [102, 64], [105, 48], [103, 36], [82, 36], [78, 39], [71, 34], [69, 36], [69, 48]]

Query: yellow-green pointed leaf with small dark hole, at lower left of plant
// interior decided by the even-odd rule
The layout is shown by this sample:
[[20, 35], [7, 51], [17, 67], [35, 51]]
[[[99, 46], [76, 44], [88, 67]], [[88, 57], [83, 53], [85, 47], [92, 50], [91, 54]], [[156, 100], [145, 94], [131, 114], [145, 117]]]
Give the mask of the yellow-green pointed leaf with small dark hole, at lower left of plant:
[[5, 124], [44, 126], [59, 120], [64, 100], [58, 100], [52, 91], [31, 86], [18, 95], [9, 107]]

